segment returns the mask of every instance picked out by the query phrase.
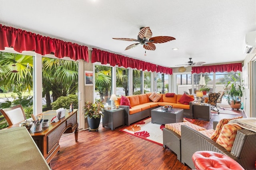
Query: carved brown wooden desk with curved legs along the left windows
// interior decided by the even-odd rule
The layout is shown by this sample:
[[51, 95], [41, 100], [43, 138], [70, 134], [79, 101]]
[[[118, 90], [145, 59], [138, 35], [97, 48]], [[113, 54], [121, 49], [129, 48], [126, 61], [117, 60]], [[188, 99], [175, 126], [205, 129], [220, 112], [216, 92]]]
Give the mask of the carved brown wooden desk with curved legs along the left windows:
[[[44, 119], [52, 120], [56, 116], [56, 111], [46, 111], [43, 113]], [[59, 140], [63, 133], [75, 134], [75, 140], [78, 140], [78, 115], [77, 109], [74, 109], [71, 113], [66, 113], [65, 117], [60, 119], [56, 123], [49, 123], [49, 127], [42, 128], [41, 132], [34, 132], [34, 125], [28, 130], [39, 150], [42, 152], [47, 163], [50, 163], [52, 158], [60, 150]], [[17, 127], [19, 124], [10, 126]]]

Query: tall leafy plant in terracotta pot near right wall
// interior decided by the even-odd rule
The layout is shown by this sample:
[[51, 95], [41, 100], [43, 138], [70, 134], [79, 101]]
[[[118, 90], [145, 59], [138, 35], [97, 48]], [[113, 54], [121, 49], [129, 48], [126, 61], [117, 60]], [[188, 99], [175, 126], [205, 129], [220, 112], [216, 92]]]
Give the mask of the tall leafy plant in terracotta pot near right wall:
[[231, 76], [232, 81], [228, 81], [225, 86], [226, 96], [228, 104], [232, 109], [240, 109], [241, 107], [241, 97], [243, 96], [244, 87], [240, 83], [240, 74], [238, 73], [238, 77], [235, 75]]

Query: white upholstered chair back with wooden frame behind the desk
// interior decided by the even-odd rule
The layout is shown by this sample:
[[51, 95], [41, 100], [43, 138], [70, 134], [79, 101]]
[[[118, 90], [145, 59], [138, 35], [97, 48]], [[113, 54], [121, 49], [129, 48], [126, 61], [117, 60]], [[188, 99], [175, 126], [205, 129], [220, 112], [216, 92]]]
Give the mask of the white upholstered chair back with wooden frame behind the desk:
[[26, 115], [24, 113], [22, 105], [16, 105], [14, 107], [0, 109], [0, 112], [6, 119], [9, 126], [26, 120]]

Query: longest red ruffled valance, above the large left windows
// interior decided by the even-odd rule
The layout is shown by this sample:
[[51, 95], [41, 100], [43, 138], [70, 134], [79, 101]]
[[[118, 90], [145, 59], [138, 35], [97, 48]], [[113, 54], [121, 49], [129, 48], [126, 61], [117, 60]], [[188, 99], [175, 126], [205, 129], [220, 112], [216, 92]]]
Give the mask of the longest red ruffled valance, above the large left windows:
[[15, 51], [35, 51], [41, 55], [54, 53], [58, 58], [70, 57], [89, 62], [88, 47], [76, 43], [40, 36], [32, 32], [0, 24], [0, 50], [13, 47]]

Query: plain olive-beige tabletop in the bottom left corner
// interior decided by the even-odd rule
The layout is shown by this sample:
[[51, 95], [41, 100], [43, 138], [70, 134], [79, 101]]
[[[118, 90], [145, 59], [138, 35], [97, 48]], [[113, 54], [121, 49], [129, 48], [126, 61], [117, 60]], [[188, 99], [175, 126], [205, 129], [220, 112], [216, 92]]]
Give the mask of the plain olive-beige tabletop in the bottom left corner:
[[1, 170], [50, 170], [26, 127], [0, 130]]

